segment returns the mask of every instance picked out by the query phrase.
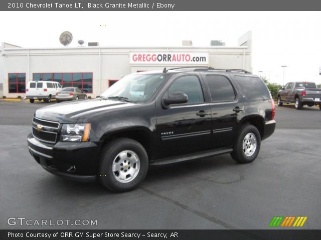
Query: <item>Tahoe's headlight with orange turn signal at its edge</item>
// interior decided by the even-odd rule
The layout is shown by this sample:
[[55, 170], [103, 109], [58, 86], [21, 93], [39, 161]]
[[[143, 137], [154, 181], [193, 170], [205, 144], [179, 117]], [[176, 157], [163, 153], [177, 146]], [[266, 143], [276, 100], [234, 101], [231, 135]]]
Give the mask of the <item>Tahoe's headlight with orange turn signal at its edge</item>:
[[61, 128], [61, 141], [88, 141], [90, 123], [63, 124]]

